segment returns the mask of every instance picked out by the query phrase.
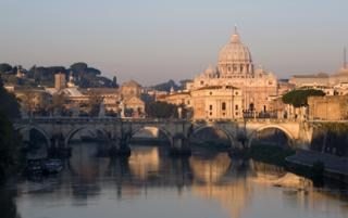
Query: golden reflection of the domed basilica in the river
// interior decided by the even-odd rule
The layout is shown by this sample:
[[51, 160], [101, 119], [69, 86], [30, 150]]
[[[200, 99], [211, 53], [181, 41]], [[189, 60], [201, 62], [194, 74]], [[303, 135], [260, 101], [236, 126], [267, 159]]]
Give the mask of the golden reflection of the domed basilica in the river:
[[246, 181], [247, 174], [238, 174], [244, 164], [243, 161], [232, 162], [226, 153], [209, 159], [192, 157], [190, 166], [195, 179], [199, 181], [192, 184], [192, 193], [216, 200], [228, 211], [229, 217], [240, 217], [249, 204], [252, 191], [250, 183]]

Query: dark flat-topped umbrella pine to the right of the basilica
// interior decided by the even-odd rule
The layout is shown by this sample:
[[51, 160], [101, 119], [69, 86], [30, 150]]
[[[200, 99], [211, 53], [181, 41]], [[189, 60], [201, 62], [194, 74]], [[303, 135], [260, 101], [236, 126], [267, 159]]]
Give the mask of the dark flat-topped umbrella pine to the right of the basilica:
[[297, 89], [287, 92], [283, 95], [282, 101], [286, 104], [291, 104], [295, 107], [308, 106], [309, 97], [324, 97], [322, 90], [316, 89]]

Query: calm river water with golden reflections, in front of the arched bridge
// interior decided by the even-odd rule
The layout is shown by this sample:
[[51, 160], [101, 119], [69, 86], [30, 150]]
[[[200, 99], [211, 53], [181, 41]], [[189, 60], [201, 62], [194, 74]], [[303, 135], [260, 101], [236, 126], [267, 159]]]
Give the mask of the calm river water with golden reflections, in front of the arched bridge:
[[73, 145], [57, 176], [17, 179], [1, 189], [0, 217], [12, 218], [348, 218], [343, 187], [316, 189], [282, 168], [194, 150], [134, 145], [128, 159], [96, 157]]

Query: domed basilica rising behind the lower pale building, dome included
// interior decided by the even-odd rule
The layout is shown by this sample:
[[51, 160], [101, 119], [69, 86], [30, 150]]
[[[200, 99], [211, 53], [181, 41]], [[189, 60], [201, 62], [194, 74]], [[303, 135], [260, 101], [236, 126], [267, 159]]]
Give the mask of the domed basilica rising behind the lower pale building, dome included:
[[269, 111], [270, 97], [277, 95], [277, 79], [263, 68], [254, 69], [251, 53], [241, 43], [235, 29], [229, 42], [220, 51], [217, 67], [210, 66], [194, 81], [187, 84], [188, 90], [206, 86], [233, 86], [241, 90], [241, 108], [247, 111]]

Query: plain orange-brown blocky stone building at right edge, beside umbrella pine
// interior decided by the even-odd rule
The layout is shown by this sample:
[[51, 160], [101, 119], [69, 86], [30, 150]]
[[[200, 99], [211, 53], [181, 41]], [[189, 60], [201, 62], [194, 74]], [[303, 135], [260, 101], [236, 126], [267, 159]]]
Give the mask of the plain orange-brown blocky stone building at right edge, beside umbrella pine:
[[309, 119], [343, 120], [348, 118], [348, 95], [309, 97]]

